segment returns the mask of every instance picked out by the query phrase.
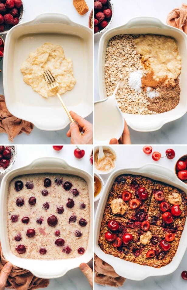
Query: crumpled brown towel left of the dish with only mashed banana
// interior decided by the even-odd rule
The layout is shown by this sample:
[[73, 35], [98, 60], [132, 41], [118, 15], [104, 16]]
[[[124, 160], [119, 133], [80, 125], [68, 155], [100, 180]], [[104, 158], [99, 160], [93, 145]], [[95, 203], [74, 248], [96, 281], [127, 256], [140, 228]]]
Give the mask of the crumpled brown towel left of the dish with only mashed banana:
[[7, 110], [5, 97], [0, 95], [0, 133], [7, 133], [9, 141], [14, 142], [14, 137], [23, 132], [29, 135], [33, 127], [32, 123], [12, 116]]

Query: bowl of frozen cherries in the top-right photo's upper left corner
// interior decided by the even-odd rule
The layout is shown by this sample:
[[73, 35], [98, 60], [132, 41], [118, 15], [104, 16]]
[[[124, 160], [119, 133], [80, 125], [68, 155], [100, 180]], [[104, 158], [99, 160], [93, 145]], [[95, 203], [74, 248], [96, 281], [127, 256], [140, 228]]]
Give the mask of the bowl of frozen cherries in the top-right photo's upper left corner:
[[94, 34], [101, 34], [110, 26], [114, 16], [111, 0], [94, 0]]

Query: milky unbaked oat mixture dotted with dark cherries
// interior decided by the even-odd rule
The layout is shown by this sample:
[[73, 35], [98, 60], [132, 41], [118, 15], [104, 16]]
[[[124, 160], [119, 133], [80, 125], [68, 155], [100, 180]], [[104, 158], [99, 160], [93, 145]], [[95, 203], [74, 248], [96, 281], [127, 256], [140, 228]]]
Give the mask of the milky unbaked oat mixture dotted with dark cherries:
[[9, 184], [9, 243], [28, 259], [75, 258], [87, 249], [90, 202], [86, 181], [75, 175], [28, 174]]

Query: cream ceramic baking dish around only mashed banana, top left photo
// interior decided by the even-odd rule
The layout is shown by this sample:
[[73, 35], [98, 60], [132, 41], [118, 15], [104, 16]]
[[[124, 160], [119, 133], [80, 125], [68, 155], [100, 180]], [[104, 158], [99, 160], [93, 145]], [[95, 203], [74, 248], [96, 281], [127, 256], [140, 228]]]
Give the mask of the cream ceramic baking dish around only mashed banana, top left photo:
[[77, 82], [61, 96], [69, 111], [85, 118], [93, 111], [93, 34], [90, 28], [72, 22], [65, 15], [44, 13], [16, 25], [6, 36], [3, 86], [9, 112], [32, 122], [38, 129], [54, 131], [70, 122], [58, 97], [40, 96], [23, 81], [20, 71], [29, 53], [45, 42], [61, 45], [66, 58], [72, 59]]

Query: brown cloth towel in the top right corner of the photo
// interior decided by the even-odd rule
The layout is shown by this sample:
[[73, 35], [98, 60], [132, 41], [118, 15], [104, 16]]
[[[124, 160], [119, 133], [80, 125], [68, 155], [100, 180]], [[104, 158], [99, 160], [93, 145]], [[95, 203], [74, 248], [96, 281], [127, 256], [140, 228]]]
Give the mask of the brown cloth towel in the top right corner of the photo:
[[181, 8], [173, 9], [167, 16], [168, 25], [181, 29], [187, 34], [187, 4], [182, 3]]

